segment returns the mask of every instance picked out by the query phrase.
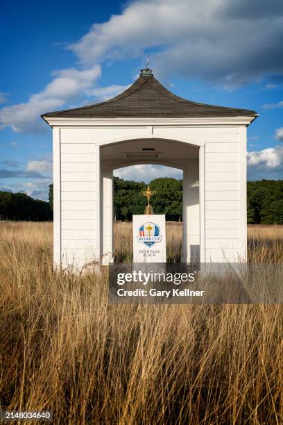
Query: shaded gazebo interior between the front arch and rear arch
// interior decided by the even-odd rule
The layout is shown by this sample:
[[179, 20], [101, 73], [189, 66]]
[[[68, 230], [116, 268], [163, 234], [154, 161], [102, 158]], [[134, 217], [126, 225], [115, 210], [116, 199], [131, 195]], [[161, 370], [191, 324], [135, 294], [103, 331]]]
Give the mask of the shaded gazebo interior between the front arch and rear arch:
[[[168, 169], [179, 169], [182, 174], [182, 224], [171, 228], [170, 242], [167, 236], [167, 260], [184, 263], [198, 262], [200, 258], [200, 195], [199, 195], [199, 147], [185, 142], [162, 139], [126, 140], [102, 145], [100, 148], [101, 165], [101, 258], [103, 263], [130, 261], [132, 230], [130, 225], [120, 225], [120, 231], [126, 237], [120, 238], [120, 244], [127, 247], [123, 255], [117, 256], [113, 231], [113, 172], [132, 165], [162, 165]], [[142, 178], [136, 180], [142, 180]], [[146, 183], [146, 182], [145, 182]], [[148, 182], [147, 182], [148, 183]], [[166, 213], [163, 211], [162, 213]], [[121, 228], [122, 226], [123, 229]], [[128, 230], [126, 230], [128, 227]], [[173, 226], [171, 226], [173, 227]], [[177, 232], [175, 238], [174, 231]], [[182, 243], [180, 235], [182, 233]], [[117, 235], [116, 235], [117, 236]], [[179, 241], [179, 242], [178, 242]], [[178, 244], [175, 255], [171, 252]]]

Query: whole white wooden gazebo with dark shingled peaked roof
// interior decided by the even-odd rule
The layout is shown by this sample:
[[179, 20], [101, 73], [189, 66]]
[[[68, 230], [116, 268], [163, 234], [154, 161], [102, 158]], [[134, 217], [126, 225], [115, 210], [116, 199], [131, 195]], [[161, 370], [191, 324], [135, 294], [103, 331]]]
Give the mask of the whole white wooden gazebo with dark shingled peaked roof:
[[142, 69], [108, 101], [42, 115], [53, 128], [54, 264], [112, 262], [114, 169], [183, 170], [182, 261], [246, 261], [252, 110], [187, 101]]

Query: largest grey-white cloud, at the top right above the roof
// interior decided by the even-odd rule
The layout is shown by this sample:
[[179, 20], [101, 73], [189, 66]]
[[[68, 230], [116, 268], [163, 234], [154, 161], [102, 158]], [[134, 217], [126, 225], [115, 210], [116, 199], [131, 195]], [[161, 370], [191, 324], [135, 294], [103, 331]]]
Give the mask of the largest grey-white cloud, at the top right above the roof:
[[[139, 0], [69, 47], [81, 63], [144, 55], [159, 76], [226, 88], [283, 74], [281, 0]], [[235, 54], [237, 52], [237, 54]]]

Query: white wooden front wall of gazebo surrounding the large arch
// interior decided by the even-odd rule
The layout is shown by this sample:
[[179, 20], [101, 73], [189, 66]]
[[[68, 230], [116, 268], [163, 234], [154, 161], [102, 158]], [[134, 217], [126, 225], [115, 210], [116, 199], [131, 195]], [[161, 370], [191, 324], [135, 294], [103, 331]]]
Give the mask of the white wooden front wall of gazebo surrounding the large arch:
[[[246, 128], [243, 126], [128, 125], [57, 129], [60, 134], [60, 234], [62, 265], [97, 260], [101, 245], [99, 146], [117, 141], [164, 138], [205, 148], [203, 186], [205, 221], [200, 223], [198, 167], [187, 172], [188, 247], [199, 246], [200, 228], [205, 234], [205, 258], [237, 260], [246, 244]], [[54, 133], [55, 134], [55, 133]], [[58, 161], [57, 161], [58, 162]], [[182, 160], [180, 160], [180, 165]], [[187, 164], [185, 164], [187, 165]], [[189, 169], [189, 167], [188, 167]], [[111, 208], [108, 208], [110, 211]], [[105, 214], [108, 214], [105, 210]], [[110, 213], [108, 214], [110, 216]], [[58, 215], [57, 215], [58, 216]], [[108, 217], [109, 219], [109, 217]], [[204, 227], [203, 226], [204, 223]], [[110, 246], [109, 226], [102, 225]], [[107, 238], [106, 238], [107, 237]], [[106, 242], [103, 242], [106, 247]], [[103, 246], [104, 246], [103, 245]], [[102, 250], [103, 251], [103, 250]], [[104, 251], [103, 251], [104, 252]], [[185, 254], [189, 258], [190, 253]]]

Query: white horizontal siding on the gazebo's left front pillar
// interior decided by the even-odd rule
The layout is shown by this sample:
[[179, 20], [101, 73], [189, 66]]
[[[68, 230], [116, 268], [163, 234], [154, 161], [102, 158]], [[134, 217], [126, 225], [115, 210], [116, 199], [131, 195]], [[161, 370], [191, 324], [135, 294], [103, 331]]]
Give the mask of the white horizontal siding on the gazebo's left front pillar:
[[61, 138], [62, 265], [81, 267], [99, 257], [99, 147], [94, 142], [79, 140], [64, 143], [64, 133]]

